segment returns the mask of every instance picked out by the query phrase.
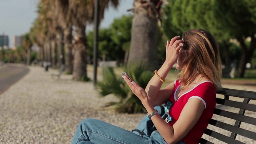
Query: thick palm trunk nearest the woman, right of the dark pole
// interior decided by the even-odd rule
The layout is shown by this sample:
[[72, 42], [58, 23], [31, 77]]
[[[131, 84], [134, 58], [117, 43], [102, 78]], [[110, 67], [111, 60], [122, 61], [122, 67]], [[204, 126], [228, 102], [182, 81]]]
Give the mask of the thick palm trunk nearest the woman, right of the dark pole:
[[148, 10], [134, 9], [128, 64], [145, 62], [156, 69], [158, 63], [157, 18], [149, 14]]

